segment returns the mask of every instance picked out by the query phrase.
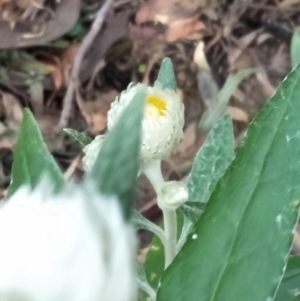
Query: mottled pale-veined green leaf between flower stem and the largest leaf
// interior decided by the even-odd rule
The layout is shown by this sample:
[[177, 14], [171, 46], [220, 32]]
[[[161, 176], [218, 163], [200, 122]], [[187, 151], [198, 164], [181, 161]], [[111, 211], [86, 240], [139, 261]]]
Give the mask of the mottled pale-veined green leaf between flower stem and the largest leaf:
[[[224, 175], [234, 156], [234, 137], [229, 116], [223, 116], [211, 129], [198, 151], [188, 180], [189, 201], [183, 213], [196, 222], [218, 180]], [[197, 204], [194, 204], [197, 203]]]

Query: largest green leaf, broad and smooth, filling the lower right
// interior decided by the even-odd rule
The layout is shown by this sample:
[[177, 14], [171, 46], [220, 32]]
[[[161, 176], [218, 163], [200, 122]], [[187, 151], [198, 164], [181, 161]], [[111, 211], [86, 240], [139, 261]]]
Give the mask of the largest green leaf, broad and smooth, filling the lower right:
[[300, 198], [300, 67], [251, 123], [181, 252], [158, 301], [272, 300]]

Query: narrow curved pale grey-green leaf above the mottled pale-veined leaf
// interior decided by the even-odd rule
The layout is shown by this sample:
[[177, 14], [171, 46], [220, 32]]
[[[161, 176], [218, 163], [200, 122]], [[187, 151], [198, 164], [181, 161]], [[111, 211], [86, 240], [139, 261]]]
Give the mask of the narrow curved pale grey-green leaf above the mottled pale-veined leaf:
[[209, 108], [204, 112], [199, 128], [202, 130], [210, 129], [216, 121], [224, 114], [227, 104], [237, 89], [238, 85], [249, 75], [256, 72], [257, 69], [244, 69], [234, 75], [230, 75], [226, 80], [223, 88], [219, 91], [217, 104], [213, 108]]

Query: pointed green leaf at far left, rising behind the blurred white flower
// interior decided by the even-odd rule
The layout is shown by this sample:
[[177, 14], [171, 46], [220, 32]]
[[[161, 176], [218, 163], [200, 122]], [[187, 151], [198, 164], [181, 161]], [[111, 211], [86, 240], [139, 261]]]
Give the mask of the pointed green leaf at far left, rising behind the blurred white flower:
[[48, 176], [52, 181], [54, 191], [58, 192], [63, 188], [64, 177], [49, 153], [32, 113], [29, 109], [24, 109], [21, 130], [14, 151], [8, 197], [25, 184], [32, 189], [35, 188], [43, 175]]

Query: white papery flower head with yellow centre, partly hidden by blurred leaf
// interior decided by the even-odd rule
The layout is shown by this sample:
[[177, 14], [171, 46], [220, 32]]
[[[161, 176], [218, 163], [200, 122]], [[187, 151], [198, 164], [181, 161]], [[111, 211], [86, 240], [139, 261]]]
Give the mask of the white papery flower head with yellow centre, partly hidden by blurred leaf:
[[[167, 158], [183, 137], [184, 105], [178, 94], [162, 89], [159, 81], [153, 87], [130, 84], [127, 90], [111, 104], [108, 112], [107, 129], [111, 131], [124, 109], [139, 89], [146, 91], [144, 119], [142, 123], [141, 165], [148, 160]], [[103, 136], [98, 136], [84, 148], [84, 168], [89, 171], [102, 147]]]

